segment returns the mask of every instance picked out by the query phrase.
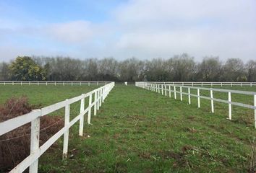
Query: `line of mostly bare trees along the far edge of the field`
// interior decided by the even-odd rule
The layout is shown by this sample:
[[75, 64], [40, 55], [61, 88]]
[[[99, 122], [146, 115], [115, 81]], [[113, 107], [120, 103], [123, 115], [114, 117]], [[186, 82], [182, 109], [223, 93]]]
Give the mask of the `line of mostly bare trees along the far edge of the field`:
[[196, 62], [187, 53], [168, 59], [22, 56], [0, 63], [0, 80], [14, 81], [256, 81], [256, 61], [221, 61], [206, 56]]

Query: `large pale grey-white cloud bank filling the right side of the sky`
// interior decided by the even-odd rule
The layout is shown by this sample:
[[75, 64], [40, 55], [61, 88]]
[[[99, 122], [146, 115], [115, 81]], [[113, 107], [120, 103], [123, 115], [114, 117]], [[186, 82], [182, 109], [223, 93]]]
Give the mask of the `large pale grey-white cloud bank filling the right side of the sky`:
[[255, 1], [134, 0], [114, 16], [123, 30], [116, 47], [134, 56], [256, 56]]

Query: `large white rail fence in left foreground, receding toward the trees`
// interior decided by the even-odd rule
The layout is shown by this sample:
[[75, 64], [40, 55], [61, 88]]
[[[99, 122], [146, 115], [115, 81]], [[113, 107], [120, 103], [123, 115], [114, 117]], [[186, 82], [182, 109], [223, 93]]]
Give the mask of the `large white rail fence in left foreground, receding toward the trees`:
[[[31, 141], [30, 141], [30, 155], [27, 156], [20, 164], [18, 164], [11, 172], [23, 172], [27, 167], [30, 167], [30, 172], [38, 172], [38, 158], [57, 140], [64, 134], [64, 144], [63, 144], [63, 158], [67, 157], [68, 141], [69, 141], [69, 128], [74, 125], [78, 120], [80, 120], [79, 135], [83, 134], [83, 124], [84, 116], [88, 113], [88, 124], [90, 124], [91, 109], [94, 108], [94, 115], [96, 115], [97, 110], [101, 107], [102, 102], [107, 97], [108, 93], [114, 87], [114, 82], [101, 86], [98, 89], [94, 89], [91, 92], [82, 94], [78, 97], [72, 99], [66, 99], [63, 102], [58, 102], [54, 105], [48, 107], [43, 107], [40, 110], [34, 110], [33, 112], [21, 115], [19, 117], [14, 117], [10, 120], [0, 123], [0, 136], [8, 133], [15, 128], [19, 128], [26, 123], [31, 122]], [[94, 95], [94, 102], [92, 102]], [[85, 109], [85, 98], [89, 97], [88, 107]], [[70, 105], [74, 102], [80, 101], [80, 114], [74, 117], [73, 120], [69, 121], [70, 115]], [[64, 128], [61, 128], [54, 136], [48, 139], [46, 143], [43, 143], [39, 147], [39, 134], [40, 134], [40, 117], [48, 115], [51, 112], [65, 108], [65, 122]]]

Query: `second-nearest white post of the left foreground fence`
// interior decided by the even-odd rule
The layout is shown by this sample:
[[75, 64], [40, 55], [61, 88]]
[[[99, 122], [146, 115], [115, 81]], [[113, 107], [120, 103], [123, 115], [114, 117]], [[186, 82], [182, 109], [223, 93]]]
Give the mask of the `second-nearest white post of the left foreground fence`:
[[[69, 99], [66, 99], [69, 100]], [[64, 139], [63, 139], [63, 154], [62, 154], [62, 159], [67, 159], [67, 149], [69, 146], [69, 115], [70, 115], [70, 105], [65, 106], [65, 124], [64, 127], [67, 128], [65, 129], [64, 133]]]

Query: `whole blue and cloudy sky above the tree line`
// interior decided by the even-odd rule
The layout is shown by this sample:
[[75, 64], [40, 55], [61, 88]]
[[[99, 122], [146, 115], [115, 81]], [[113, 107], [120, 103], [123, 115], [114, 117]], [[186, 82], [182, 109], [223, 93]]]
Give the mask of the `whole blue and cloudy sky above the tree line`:
[[0, 0], [0, 61], [182, 53], [256, 60], [256, 1]]

